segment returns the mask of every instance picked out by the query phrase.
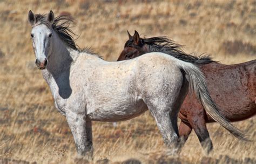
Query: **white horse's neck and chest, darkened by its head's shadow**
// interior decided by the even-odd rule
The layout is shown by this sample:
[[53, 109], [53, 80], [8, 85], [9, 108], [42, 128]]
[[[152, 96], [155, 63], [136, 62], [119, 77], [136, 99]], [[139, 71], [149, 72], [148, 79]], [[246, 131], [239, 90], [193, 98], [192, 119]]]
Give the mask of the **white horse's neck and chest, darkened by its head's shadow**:
[[72, 93], [69, 81], [71, 64], [77, 57], [75, 54], [79, 52], [66, 46], [56, 32], [54, 34], [48, 57], [49, 64], [42, 73], [53, 97], [60, 96], [66, 99]]

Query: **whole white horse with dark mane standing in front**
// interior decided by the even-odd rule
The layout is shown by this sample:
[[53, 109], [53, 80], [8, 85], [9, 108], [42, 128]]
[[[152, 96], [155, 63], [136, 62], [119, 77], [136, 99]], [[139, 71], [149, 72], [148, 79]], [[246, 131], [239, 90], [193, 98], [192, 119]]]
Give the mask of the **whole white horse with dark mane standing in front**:
[[[64, 21], [64, 23], [63, 23]], [[200, 70], [163, 53], [109, 62], [79, 50], [69, 19], [29, 11], [36, 65], [50, 86], [56, 108], [65, 115], [79, 155], [92, 155], [91, 121], [128, 120], [150, 110], [167, 148], [178, 143], [177, 115], [193, 90], [208, 114], [234, 135], [242, 135], [218, 112]], [[59, 24], [59, 22], [62, 22]]]

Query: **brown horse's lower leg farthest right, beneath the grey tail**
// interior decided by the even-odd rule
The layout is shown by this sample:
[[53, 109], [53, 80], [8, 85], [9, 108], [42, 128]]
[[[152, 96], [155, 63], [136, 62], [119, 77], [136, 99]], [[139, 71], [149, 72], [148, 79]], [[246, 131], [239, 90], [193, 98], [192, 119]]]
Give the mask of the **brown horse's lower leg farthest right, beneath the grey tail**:
[[188, 118], [188, 121], [194, 129], [194, 132], [196, 132], [201, 146], [204, 148], [207, 154], [210, 153], [213, 149], [213, 146], [210, 135], [207, 131], [204, 111], [201, 110], [200, 113]]

